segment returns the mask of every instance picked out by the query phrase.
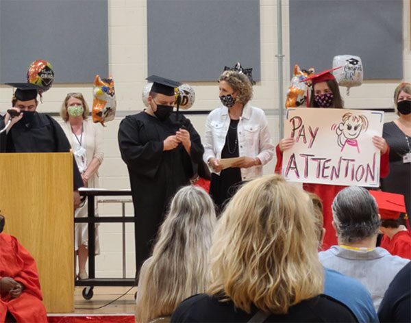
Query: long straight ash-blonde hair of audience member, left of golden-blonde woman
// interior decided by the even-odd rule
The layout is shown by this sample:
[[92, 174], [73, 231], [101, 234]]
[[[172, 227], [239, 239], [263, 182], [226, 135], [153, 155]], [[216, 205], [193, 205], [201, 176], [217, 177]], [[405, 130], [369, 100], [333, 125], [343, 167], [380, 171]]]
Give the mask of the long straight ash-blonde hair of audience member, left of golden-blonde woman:
[[168, 316], [208, 286], [208, 250], [216, 224], [214, 203], [201, 188], [186, 186], [171, 201], [153, 255], [142, 266], [136, 321]]

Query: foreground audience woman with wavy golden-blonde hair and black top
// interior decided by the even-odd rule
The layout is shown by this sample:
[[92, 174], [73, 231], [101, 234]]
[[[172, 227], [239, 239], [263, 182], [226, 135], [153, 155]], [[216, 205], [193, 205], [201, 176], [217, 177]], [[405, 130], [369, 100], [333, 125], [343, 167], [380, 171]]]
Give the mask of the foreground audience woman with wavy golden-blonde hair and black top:
[[254, 315], [267, 322], [356, 322], [347, 307], [321, 295], [314, 222], [306, 193], [279, 175], [244, 185], [216, 228], [208, 295], [182, 302], [171, 322], [256, 322]]

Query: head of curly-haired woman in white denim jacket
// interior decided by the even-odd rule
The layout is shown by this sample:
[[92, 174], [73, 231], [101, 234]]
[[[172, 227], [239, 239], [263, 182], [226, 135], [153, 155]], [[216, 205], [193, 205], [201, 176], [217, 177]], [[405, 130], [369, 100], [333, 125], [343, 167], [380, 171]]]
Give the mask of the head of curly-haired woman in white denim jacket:
[[[247, 75], [236, 72], [235, 70], [225, 70], [219, 77], [220, 99], [223, 102], [222, 96], [232, 96], [235, 101], [223, 102], [227, 107], [232, 107], [236, 101], [246, 105], [253, 96], [253, 86]], [[230, 101], [230, 100], [229, 100]], [[230, 104], [232, 103], [232, 105]]]

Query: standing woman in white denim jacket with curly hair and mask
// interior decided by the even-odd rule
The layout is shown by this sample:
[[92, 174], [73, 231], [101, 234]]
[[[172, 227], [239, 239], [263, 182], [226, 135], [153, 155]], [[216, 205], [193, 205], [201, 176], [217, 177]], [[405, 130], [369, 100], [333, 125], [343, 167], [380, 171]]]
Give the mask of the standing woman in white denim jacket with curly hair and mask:
[[[262, 175], [274, 145], [264, 112], [248, 104], [253, 95], [249, 78], [226, 70], [219, 77], [219, 90], [224, 106], [208, 115], [203, 156], [212, 172], [210, 195], [221, 209], [239, 183]], [[233, 157], [240, 159], [223, 169], [220, 160]]]

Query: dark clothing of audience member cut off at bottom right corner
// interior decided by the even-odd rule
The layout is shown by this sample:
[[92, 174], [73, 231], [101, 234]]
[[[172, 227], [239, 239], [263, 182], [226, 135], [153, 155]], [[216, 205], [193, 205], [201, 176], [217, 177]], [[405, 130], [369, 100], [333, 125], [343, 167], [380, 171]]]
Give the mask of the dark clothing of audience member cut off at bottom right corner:
[[388, 286], [378, 309], [379, 322], [411, 322], [411, 262]]

